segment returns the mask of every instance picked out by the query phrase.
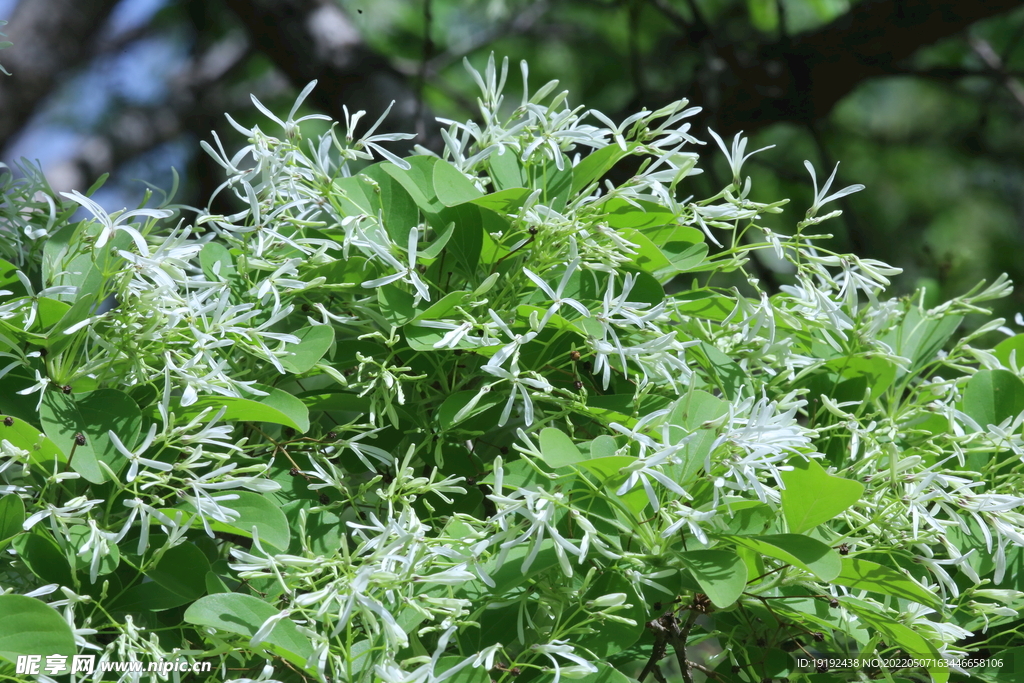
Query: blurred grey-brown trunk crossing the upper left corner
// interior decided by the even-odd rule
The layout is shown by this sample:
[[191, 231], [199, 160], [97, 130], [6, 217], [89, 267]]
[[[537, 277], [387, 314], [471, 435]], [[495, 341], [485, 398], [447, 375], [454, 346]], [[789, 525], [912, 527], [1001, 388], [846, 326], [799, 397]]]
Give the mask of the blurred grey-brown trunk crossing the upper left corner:
[[94, 39], [118, 0], [19, 2], [4, 51], [12, 74], [0, 80], [0, 147], [32, 117], [36, 106], [74, 67], [90, 54]]

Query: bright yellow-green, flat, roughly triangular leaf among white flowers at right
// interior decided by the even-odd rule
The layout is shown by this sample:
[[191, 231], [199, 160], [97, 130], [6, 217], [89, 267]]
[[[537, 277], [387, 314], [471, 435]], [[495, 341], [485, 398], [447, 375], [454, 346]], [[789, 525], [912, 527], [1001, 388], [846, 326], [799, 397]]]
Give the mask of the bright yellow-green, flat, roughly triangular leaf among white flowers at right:
[[864, 485], [833, 476], [815, 461], [794, 459], [793, 470], [782, 472], [782, 513], [791, 533], [803, 533], [834, 519], [860, 500]]

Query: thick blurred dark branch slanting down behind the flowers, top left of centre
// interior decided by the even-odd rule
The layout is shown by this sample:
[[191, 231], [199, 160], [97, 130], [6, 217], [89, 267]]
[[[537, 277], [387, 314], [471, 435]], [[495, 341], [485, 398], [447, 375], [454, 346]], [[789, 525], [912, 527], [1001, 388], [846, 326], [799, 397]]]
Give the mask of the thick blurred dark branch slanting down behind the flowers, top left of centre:
[[[373, 121], [394, 101], [381, 132], [416, 129], [416, 92], [332, 0], [225, 0], [252, 42], [298, 88], [316, 79], [309, 102], [334, 119], [367, 110]], [[438, 137], [439, 139], [439, 137]], [[436, 140], [418, 140], [436, 147]]]

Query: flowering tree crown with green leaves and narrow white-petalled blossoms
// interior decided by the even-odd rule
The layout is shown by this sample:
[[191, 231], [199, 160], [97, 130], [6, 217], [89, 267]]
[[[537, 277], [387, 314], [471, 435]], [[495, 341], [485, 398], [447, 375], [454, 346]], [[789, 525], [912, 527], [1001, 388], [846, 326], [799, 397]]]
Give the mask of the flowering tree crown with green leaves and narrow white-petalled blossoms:
[[[740, 136], [711, 133], [730, 184], [681, 199], [685, 101], [615, 124], [528, 94], [525, 65], [514, 108], [507, 63], [472, 73], [480, 122], [442, 121], [440, 157], [394, 156], [361, 113], [307, 137], [312, 84], [285, 119], [256, 102], [280, 137], [204, 145], [233, 215], [6, 176], [0, 657], [999, 680], [1024, 336], [957, 331], [1009, 284], [885, 299], [895, 269], [816, 231], [861, 188], [835, 171], [819, 188], [808, 165], [813, 205], [778, 234]], [[765, 291], [757, 251], [792, 284]]]

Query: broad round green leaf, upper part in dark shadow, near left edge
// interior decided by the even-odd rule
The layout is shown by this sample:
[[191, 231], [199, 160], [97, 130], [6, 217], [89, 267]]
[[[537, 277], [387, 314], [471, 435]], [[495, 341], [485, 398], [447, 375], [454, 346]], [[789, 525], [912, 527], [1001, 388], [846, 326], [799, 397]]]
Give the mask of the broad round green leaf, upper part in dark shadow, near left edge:
[[[130, 451], [138, 442], [142, 429], [142, 412], [131, 396], [117, 389], [72, 395], [48, 390], [43, 394], [39, 419], [43, 431], [63, 453], [71, 454], [74, 446], [72, 469], [92, 483], [106, 481], [100, 461], [114, 472], [119, 472], [127, 462], [108, 432], [117, 434]], [[85, 436], [83, 445], [75, 443], [78, 433]]]

